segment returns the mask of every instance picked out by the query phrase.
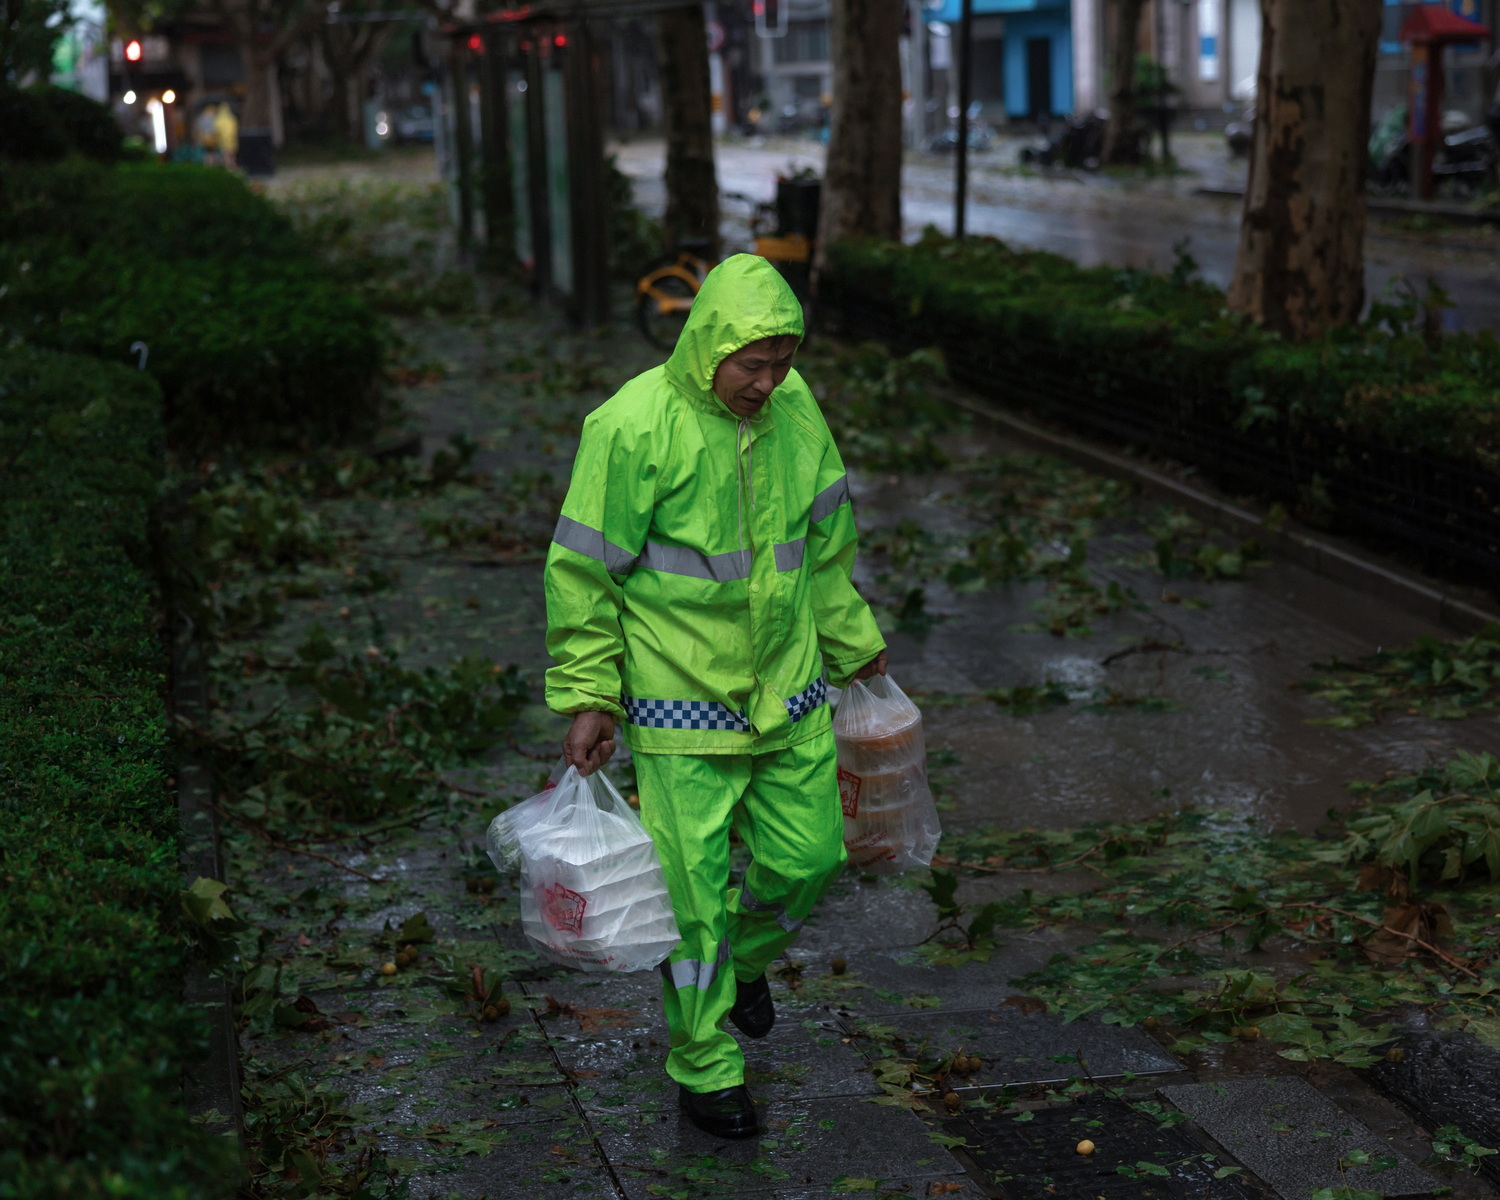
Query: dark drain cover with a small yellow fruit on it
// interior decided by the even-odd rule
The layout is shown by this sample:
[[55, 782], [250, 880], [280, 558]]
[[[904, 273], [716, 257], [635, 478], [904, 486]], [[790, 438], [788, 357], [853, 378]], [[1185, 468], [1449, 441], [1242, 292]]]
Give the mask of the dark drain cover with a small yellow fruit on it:
[[[1262, 1200], [1240, 1174], [1215, 1179], [1214, 1158], [1180, 1130], [1119, 1100], [1092, 1098], [1035, 1110], [1030, 1120], [1011, 1114], [963, 1114], [951, 1122], [970, 1146], [969, 1156], [1005, 1191], [1008, 1200]], [[968, 1126], [968, 1128], [964, 1128]], [[1080, 1155], [1082, 1140], [1094, 1142]], [[1167, 1172], [1142, 1170], [1150, 1164]], [[1136, 1176], [1122, 1174], [1125, 1167]]]

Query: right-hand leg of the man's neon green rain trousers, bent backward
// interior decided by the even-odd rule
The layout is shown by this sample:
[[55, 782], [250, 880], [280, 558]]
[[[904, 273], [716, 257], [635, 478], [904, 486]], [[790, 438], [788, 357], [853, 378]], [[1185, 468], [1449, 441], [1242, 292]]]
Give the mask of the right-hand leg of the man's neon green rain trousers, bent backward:
[[750, 866], [730, 892], [735, 978], [760, 975], [792, 942], [844, 864], [832, 732], [752, 760], [735, 810]]

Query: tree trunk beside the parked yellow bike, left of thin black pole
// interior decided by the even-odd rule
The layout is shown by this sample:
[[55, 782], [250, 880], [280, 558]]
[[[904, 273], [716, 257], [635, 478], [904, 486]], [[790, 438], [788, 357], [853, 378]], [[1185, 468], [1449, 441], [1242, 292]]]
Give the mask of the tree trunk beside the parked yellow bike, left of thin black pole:
[[846, 237], [902, 236], [902, 0], [832, 0], [834, 111], [818, 262]]

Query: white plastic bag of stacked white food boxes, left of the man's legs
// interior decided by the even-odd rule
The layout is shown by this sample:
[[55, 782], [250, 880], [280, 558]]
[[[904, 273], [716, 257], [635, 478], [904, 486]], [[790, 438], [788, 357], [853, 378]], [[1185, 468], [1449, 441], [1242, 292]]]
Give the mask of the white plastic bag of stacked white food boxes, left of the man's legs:
[[489, 824], [489, 856], [520, 866], [520, 927], [554, 962], [650, 970], [680, 940], [651, 836], [614, 784], [568, 766]]

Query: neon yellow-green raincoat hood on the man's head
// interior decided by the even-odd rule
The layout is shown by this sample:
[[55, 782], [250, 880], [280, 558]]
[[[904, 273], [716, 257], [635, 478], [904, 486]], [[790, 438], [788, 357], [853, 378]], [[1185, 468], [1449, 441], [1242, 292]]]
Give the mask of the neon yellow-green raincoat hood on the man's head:
[[801, 302], [766, 260], [730, 255], [704, 279], [666, 375], [693, 399], [729, 414], [714, 396], [718, 364], [752, 342], [783, 334], [802, 336]]

